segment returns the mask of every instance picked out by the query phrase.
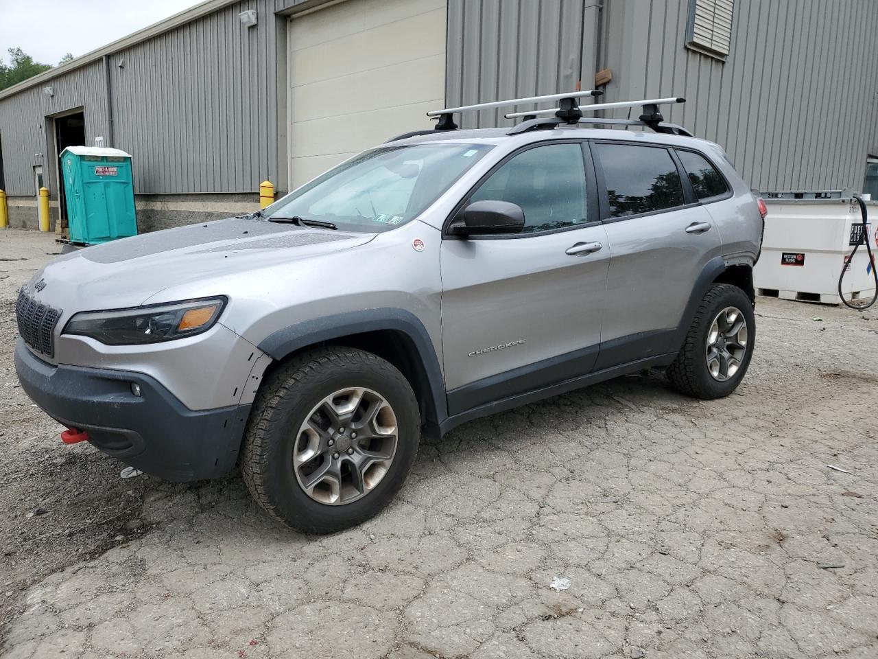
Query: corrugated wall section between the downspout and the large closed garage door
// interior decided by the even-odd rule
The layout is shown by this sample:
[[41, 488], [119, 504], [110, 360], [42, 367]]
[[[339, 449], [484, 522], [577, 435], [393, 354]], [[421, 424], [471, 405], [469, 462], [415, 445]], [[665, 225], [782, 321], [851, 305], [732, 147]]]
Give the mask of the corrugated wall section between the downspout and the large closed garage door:
[[[273, 5], [233, 4], [111, 56], [114, 146], [132, 154], [138, 192], [277, 183]], [[259, 21], [244, 28], [238, 13], [248, 9]]]

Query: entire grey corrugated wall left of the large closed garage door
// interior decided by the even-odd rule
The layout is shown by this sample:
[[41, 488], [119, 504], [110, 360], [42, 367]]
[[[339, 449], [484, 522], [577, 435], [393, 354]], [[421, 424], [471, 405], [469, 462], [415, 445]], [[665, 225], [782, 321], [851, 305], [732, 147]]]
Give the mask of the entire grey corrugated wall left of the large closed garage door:
[[[80, 105], [89, 144], [104, 135], [132, 154], [138, 193], [255, 192], [266, 178], [283, 190], [286, 19], [275, 12], [292, 4], [243, 0], [109, 55], [112, 130], [102, 62], [0, 99], [7, 192], [31, 194], [33, 154], [52, 159], [44, 117]], [[248, 9], [255, 27], [238, 18]]]

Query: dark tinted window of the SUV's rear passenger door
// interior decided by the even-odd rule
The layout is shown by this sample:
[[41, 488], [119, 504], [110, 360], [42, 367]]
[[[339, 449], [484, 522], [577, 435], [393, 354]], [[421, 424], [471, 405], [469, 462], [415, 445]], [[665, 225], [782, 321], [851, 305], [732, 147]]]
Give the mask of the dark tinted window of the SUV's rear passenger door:
[[682, 206], [680, 175], [665, 148], [627, 144], [594, 146], [601, 158], [612, 217]]

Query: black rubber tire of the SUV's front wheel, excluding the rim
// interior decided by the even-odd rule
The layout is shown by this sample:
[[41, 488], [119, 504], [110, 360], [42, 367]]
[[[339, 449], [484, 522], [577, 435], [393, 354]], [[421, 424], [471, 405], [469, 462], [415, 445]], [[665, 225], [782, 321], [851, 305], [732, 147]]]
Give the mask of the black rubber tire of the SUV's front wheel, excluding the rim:
[[[328, 505], [299, 485], [292, 452], [306, 415], [344, 387], [366, 387], [385, 398], [396, 416], [396, 453], [374, 489], [350, 503]], [[360, 524], [391, 501], [414, 464], [420, 439], [418, 402], [405, 376], [371, 352], [328, 347], [299, 355], [263, 382], [248, 420], [241, 472], [271, 517], [302, 532], [332, 533]]]

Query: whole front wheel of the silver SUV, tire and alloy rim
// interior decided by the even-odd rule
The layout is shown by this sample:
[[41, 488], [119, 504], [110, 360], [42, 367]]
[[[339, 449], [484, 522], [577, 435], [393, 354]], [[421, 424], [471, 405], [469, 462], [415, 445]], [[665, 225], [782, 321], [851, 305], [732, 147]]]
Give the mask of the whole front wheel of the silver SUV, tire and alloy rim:
[[286, 525], [328, 533], [378, 513], [405, 482], [421, 419], [412, 387], [370, 352], [309, 351], [263, 383], [241, 471]]

